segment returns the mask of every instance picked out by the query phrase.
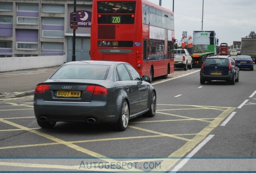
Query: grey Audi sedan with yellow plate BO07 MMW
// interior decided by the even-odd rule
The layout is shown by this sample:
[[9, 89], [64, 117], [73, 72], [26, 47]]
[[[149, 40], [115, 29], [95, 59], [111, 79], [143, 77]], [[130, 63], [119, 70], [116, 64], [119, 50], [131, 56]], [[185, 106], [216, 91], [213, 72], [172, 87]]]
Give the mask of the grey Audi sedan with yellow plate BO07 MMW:
[[65, 63], [35, 88], [37, 123], [42, 128], [59, 121], [109, 123], [124, 131], [129, 119], [155, 116], [156, 91], [149, 81], [126, 62]]

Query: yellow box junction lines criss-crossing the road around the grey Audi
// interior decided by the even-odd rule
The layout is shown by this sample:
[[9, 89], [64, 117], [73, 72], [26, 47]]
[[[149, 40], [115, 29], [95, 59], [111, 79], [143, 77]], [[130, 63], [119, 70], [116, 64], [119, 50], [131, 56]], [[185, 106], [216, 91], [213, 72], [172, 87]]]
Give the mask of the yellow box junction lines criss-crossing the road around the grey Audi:
[[[25, 106], [25, 107], [33, 107], [30, 106], [29, 103], [23, 103], [21, 105], [18, 104], [14, 104], [14, 103], [9, 103], [13, 106]], [[120, 138], [109, 138], [109, 139], [94, 139], [94, 140], [84, 140], [84, 141], [63, 141], [62, 139], [58, 139], [56, 137], [47, 135], [45, 133], [41, 133], [39, 131], [36, 131], [37, 128], [31, 129], [31, 128], [27, 128], [21, 125], [18, 125], [16, 123], [12, 123], [10, 121], [7, 121], [7, 119], [19, 119], [19, 118], [24, 118], [24, 117], [13, 117], [13, 118], [2, 118], [0, 119], [0, 122], [2, 123], [6, 123], [8, 125], [12, 125], [14, 127], [17, 127], [18, 129], [10, 129], [9, 131], [14, 131], [14, 130], [24, 130], [24, 131], [29, 131], [31, 133], [35, 133], [41, 137], [45, 137], [46, 139], [50, 139], [52, 141], [54, 141], [53, 143], [44, 143], [44, 144], [33, 144], [33, 145], [18, 145], [18, 146], [8, 146], [8, 147], [0, 147], [0, 149], [10, 149], [10, 148], [20, 148], [20, 147], [36, 147], [36, 146], [45, 146], [45, 145], [66, 145], [67, 147], [70, 147], [72, 149], [75, 149], [76, 151], [80, 151], [82, 153], [85, 153], [87, 155], [91, 155], [95, 158], [99, 158], [101, 160], [105, 160], [105, 161], [116, 161], [114, 159], [110, 159], [107, 158], [99, 153], [90, 151], [88, 149], [79, 147], [77, 145], [75, 145], [74, 143], [85, 143], [85, 142], [98, 142], [98, 141], [111, 141], [111, 140], [128, 140], [128, 139], [143, 139], [143, 138], [151, 138], [151, 137], [171, 137], [171, 138], [175, 138], [175, 139], [180, 139], [183, 141], [187, 141], [180, 149], [178, 149], [177, 151], [171, 153], [168, 158], [158, 158], [158, 159], [138, 159], [136, 161], [150, 161], [150, 160], [157, 160], [157, 161], [162, 161], [161, 162], [161, 170], [157, 169], [157, 170], [153, 170], [153, 171], [167, 171], [169, 169], [171, 169], [173, 167], [173, 165], [175, 165], [175, 163], [177, 163], [180, 159], [180, 157], [184, 157], [186, 156], [186, 154], [188, 152], [190, 152], [192, 149], [194, 149], [194, 147], [196, 147], [196, 145], [198, 145], [198, 143], [200, 143], [202, 140], [204, 140], [207, 135], [209, 135], [209, 133], [211, 133], [211, 131], [213, 131], [213, 129], [215, 129], [219, 123], [221, 123], [221, 121], [223, 119], [225, 119], [225, 117], [227, 117], [227, 115], [229, 115], [229, 113], [231, 113], [235, 108], [233, 107], [215, 107], [215, 106], [199, 106], [199, 105], [167, 105], [167, 104], [157, 104], [157, 105], [165, 105], [165, 106], [181, 106], [181, 107], [186, 107], [184, 109], [162, 109], [162, 110], [157, 110], [158, 114], [163, 114], [163, 115], [169, 115], [169, 116], [173, 116], [173, 117], [179, 117], [182, 119], [175, 119], [175, 120], [159, 120], [159, 121], [141, 121], [141, 122], [130, 122], [129, 124], [132, 123], [154, 123], [154, 122], [166, 122], [166, 121], [203, 121], [206, 123], [209, 123], [209, 125], [207, 125], [204, 129], [202, 129], [199, 133], [192, 133], [192, 134], [166, 134], [166, 133], [161, 133], [161, 132], [157, 132], [157, 131], [152, 131], [149, 129], [143, 129], [140, 127], [135, 127], [132, 125], [129, 125], [130, 128], [133, 129], [137, 129], [140, 131], [146, 131], [149, 133], [153, 133], [153, 134], [157, 134], [157, 135], [150, 135], [150, 136], [138, 136], [138, 137], [120, 137]], [[187, 107], [192, 107], [191, 109], [188, 109]], [[187, 117], [187, 116], [182, 116], [182, 115], [174, 115], [174, 114], [170, 114], [170, 113], [165, 113], [164, 111], [174, 111], [174, 110], [193, 110], [193, 109], [212, 109], [212, 110], [216, 110], [216, 111], [222, 111], [222, 113], [217, 116], [216, 118], [191, 118], [191, 117]], [[13, 109], [13, 110], [28, 110], [28, 109]], [[12, 110], [1, 110], [1, 111], [12, 111]], [[26, 117], [26, 118], [34, 118], [34, 117]], [[211, 121], [212, 120], [212, 121]], [[8, 130], [1, 130], [1, 131], [8, 131]], [[186, 136], [186, 135], [195, 135], [194, 138], [192, 139], [186, 139], [184, 137], [181, 136]], [[104, 158], [104, 159], [102, 159]], [[178, 159], [177, 159], [178, 158]], [[131, 160], [129, 160], [131, 161]], [[66, 165], [44, 165], [44, 164], [24, 164], [24, 163], [4, 163], [4, 162], [0, 162], [0, 165], [6, 165], [6, 166], [20, 166], [20, 167], [50, 167], [50, 168], [59, 168], [59, 169], [72, 169], [72, 170], [76, 170], [78, 168], [77, 165], [75, 166], [66, 166]], [[81, 169], [80, 169], [81, 170]], [[95, 170], [97, 171], [97, 170]], [[111, 171], [109, 169], [103, 170], [100, 169], [98, 171]], [[112, 170], [112, 171], [116, 171], [116, 170]], [[136, 169], [129, 169], [129, 171], [141, 171], [141, 170], [136, 170]]]

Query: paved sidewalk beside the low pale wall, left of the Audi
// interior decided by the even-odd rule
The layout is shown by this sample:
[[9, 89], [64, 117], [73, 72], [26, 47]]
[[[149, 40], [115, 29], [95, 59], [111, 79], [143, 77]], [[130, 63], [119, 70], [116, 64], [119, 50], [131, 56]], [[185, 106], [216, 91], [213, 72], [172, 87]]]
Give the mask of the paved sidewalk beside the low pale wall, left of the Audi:
[[0, 72], [0, 98], [32, 95], [35, 86], [47, 80], [58, 67]]

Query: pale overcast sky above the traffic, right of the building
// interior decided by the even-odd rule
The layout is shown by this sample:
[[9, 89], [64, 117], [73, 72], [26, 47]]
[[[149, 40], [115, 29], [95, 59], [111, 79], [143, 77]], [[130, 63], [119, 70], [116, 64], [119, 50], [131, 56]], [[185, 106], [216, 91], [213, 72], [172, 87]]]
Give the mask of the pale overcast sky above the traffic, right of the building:
[[[159, 0], [149, 1], [159, 5]], [[163, 7], [173, 9], [173, 0], [161, 2]], [[256, 32], [256, 0], [174, 0], [174, 30], [178, 43], [184, 31], [193, 36], [194, 30], [214, 30], [219, 44], [231, 46], [233, 41]]]

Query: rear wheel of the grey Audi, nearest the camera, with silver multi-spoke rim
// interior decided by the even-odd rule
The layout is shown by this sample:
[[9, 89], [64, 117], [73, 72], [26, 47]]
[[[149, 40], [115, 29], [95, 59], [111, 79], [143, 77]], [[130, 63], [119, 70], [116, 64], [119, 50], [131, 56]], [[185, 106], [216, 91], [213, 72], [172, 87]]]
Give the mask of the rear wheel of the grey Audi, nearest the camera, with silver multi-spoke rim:
[[126, 100], [122, 103], [119, 119], [116, 122], [116, 130], [125, 131], [129, 122], [129, 106]]

